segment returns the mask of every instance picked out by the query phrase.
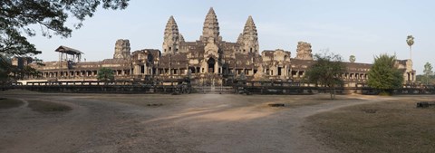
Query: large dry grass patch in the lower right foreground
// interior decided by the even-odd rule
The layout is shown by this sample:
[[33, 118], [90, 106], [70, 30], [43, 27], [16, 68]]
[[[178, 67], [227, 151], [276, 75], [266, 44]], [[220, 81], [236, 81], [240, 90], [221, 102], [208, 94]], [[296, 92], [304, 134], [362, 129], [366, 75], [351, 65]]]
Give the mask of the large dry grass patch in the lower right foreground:
[[342, 152], [435, 152], [435, 108], [416, 99], [347, 107], [308, 118], [316, 139]]

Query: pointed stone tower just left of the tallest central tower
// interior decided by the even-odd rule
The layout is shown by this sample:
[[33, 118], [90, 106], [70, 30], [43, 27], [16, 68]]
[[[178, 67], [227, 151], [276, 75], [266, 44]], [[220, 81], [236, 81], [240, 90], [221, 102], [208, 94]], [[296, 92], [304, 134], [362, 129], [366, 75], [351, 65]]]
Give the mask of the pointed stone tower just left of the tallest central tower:
[[170, 16], [163, 38], [163, 53], [178, 53], [180, 42], [184, 42], [184, 38], [179, 33], [179, 26], [174, 17]]

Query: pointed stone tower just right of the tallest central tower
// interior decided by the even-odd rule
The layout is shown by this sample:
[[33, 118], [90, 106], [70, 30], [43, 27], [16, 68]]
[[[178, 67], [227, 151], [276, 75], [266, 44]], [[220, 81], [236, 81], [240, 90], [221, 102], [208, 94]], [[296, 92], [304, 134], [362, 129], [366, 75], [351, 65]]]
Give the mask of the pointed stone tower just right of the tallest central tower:
[[241, 45], [240, 50], [242, 53], [259, 54], [258, 33], [256, 32], [256, 24], [254, 24], [252, 16], [249, 15], [247, 18], [247, 24], [245, 24], [243, 33], [240, 33], [238, 36], [237, 43]]

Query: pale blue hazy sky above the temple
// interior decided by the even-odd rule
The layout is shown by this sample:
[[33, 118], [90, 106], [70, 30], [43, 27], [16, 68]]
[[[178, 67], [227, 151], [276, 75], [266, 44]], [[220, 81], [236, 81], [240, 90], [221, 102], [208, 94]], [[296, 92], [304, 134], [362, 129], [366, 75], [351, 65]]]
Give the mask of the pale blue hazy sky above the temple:
[[[421, 74], [426, 62], [435, 66], [434, 6], [430, 0], [131, 0], [125, 10], [98, 9], [72, 37], [49, 39], [38, 34], [29, 41], [43, 51], [36, 57], [45, 62], [58, 60], [54, 50], [60, 45], [82, 51], [88, 62], [109, 59], [118, 39], [129, 39], [131, 52], [161, 51], [170, 15], [185, 40], [193, 42], [213, 7], [224, 41], [237, 42], [252, 15], [260, 51], [284, 49], [292, 57], [297, 43], [304, 41], [311, 43], [313, 53], [337, 53], [344, 61], [355, 55], [356, 62], [372, 63], [382, 53], [410, 59], [406, 37], [411, 34], [413, 69]], [[73, 24], [76, 21], [67, 23]]]

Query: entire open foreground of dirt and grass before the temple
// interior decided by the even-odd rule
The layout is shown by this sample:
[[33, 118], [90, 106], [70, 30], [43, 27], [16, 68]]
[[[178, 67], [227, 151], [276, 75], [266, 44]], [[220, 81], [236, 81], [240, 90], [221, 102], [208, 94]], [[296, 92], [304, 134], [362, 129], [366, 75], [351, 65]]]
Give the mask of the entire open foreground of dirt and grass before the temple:
[[435, 107], [416, 108], [435, 95], [0, 98], [0, 152], [435, 152]]

